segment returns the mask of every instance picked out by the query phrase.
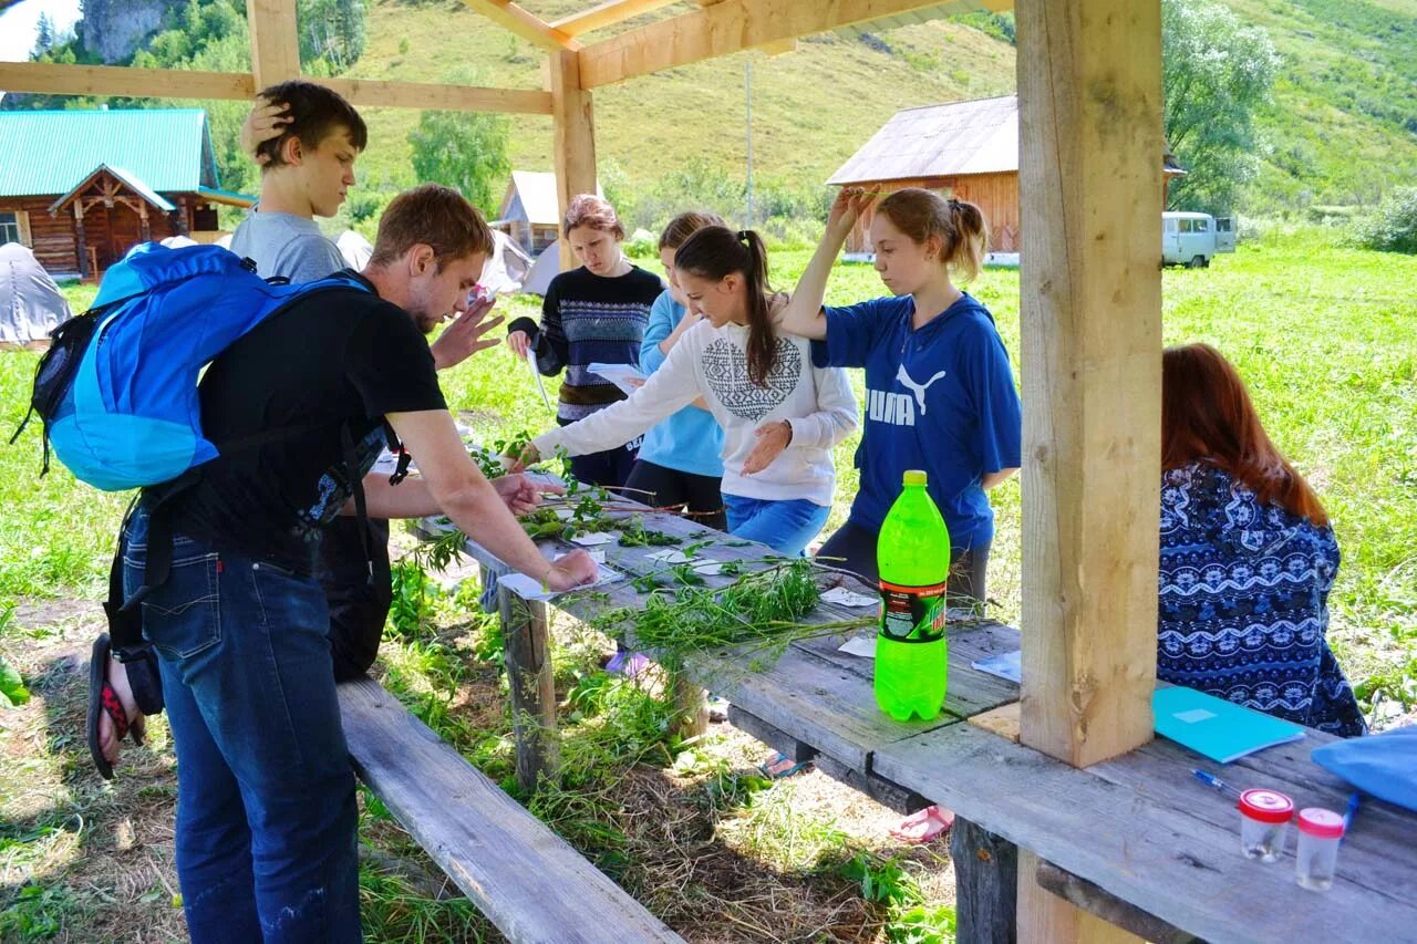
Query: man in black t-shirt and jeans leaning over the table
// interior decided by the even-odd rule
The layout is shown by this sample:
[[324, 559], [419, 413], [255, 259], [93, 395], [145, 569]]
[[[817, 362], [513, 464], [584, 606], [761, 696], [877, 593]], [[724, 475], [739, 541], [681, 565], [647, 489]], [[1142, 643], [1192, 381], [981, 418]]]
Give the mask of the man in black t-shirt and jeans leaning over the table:
[[[422, 335], [462, 310], [492, 248], [445, 187], [401, 194], [380, 221], [364, 288], [293, 303], [228, 347], [201, 381], [214, 441], [265, 437], [201, 466], [162, 509], [170, 575], [143, 602], [177, 753], [177, 873], [193, 941], [360, 937], [354, 775], [312, 577], [320, 529], [350, 513], [393, 427], [421, 478], [363, 478], [368, 515], [442, 512], [512, 568], [565, 590], [594, 578], [577, 551], [544, 560], [513, 510], [521, 476], [489, 482], [468, 456]], [[350, 468], [350, 466], [356, 468]], [[128, 530], [125, 590], [143, 581], [152, 498]]]

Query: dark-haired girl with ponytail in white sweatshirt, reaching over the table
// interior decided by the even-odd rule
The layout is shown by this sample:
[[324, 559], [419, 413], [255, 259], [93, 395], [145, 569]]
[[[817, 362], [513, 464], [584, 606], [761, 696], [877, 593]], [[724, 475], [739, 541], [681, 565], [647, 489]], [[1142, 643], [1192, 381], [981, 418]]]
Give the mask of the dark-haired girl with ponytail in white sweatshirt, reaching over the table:
[[832, 446], [856, 431], [850, 384], [842, 370], [812, 366], [808, 342], [781, 332], [788, 299], [768, 289], [757, 232], [697, 230], [674, 252], [674, 281], [701, 320], [663, 366], [629, 400], [537, 437], [521, 459], [612, 448], [703, 397], [724, 431], [728, 532], [801, 554], [832, 507]]

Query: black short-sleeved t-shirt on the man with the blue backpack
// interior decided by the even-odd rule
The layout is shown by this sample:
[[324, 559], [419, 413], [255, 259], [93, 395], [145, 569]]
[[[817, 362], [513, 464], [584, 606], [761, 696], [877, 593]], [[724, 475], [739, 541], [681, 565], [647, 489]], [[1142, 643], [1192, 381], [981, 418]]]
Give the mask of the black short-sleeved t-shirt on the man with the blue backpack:
[[384, 445], [384, 414], [445, 410], [432, 353], [412, 319], [373, 292], [326, 289], [224, 350], [200, 384], [203, 432], [225, 449], [173, 499], [173, 529], [218, 549], [309, 573], [320, 527], [353, 493], [341, 431], [363, 476]]

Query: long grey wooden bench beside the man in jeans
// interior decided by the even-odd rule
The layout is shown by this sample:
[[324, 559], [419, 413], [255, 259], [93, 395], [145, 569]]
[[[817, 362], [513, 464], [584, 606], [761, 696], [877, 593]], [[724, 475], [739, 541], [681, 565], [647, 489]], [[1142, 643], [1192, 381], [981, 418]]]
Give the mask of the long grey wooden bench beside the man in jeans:
[[360, 778], [509, 940], [683, 940], [377, 682], [339, 696]]

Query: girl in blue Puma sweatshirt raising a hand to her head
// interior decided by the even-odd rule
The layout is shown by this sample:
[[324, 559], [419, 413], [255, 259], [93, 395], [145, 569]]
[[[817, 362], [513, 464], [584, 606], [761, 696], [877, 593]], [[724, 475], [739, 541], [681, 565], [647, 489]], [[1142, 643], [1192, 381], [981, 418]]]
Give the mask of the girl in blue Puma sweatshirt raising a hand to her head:
[[874, 194], [843, 189], [822, 244], [782, 319], [812, 339], [819, 367], [864, 367], [862, 485], [847, 523], [822, 547], [846, 570], [879, 580], [876, 539], [905, 469], [930, 475], [949, 527], [949, 595], [985, 600], [993, 510], [985, 492], [1019, 471], [1023, 414], [1009, 354], [989, 310], [955, 288], [978, 275], [988, 241], [979, 207], [928, 190], [897, 190], [870, 224], [888, 298], [823, 308], [832, 264]]

